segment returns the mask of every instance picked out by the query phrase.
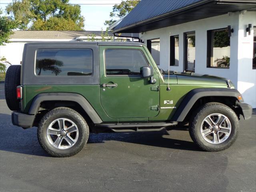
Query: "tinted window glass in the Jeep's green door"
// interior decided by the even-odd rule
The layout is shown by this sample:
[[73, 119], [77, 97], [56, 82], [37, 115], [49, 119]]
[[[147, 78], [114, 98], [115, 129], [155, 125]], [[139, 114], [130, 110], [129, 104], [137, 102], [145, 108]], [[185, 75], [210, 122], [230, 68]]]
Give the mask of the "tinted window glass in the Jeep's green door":
[[140, 75], [140, 68], [148, 66], [142, 51], [134, 49], [105, 50], [106, 75]]

